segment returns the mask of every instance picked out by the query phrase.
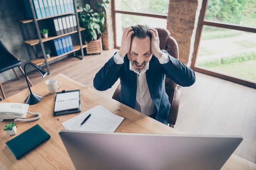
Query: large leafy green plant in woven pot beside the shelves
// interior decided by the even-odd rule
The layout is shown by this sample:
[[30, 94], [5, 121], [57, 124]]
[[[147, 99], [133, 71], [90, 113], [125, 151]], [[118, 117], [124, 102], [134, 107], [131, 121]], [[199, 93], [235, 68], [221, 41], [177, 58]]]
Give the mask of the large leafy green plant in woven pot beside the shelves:
[[80, 26], [85, 28], [85, 44], [86, 53], [101, 53], [102, 52], [102, 33], [105, 28], [106, 13], [103, 9], [107, 8], [108, 0], [102, 0], [102, 3], [95, 3], [98, 9], [92, 9], [90, 4], [85, 4], [85, 7], [78, 6], [83, 11], [79, 13]]

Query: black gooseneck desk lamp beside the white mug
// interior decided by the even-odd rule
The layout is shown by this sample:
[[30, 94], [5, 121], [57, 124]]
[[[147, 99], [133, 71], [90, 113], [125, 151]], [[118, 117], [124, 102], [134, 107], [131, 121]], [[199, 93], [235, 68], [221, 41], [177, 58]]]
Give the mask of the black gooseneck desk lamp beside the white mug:
[[45, 77], [48, 74], [48, 72], [38, 68], [38, 66], [36, 66], [35, 64], [29, 63], [29, 62], [24, 65], [24, 72], [25, 72], [25, 77], [26, 77], [26, 81], [27, 81], [27, 86], [29, 87], [29, 96], [27, 97], [27, 99], [25, 99], [25, 104], [32, 105], [32, 104], [37, 104], [38, 102], [40, 102], [43, 97], [41, 95], [32, 93], [32, 91], [30, 89], [29, 82], [27, 80], [26, 68], [25, 68], [28, 64], [34, 66], [39, 71], [39, 73], [41, 74], [42, 77]]

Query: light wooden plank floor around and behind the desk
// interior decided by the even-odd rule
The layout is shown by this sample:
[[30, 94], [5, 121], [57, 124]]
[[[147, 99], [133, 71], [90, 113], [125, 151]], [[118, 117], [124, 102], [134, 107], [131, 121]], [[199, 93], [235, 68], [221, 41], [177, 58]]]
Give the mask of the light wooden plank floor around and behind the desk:
[[[63, 73], [94, 88], [95, 74], [115, 51], [113, 49], [103, 51], [101, 55], [88, 55], [83, 60], [66, 57], [50, 64], [51, 74], [47, 77], [40, 77], [36, 71], [30, 72], [28, 77], [33, 84], [38, 84]], [[118, 83], [101, 93], [112, 97]], [[27, 83], [21, 75], [19, 81], [13, 79], [3, 83], [3, 88], [9, 97], [26, 89]], [[196, 73], [195, 84], [182, 88], [180, 110], [174, 128], [186, 134], [241, 135], [243, 141], [234, 154], [256, 163], [256, 89]]]

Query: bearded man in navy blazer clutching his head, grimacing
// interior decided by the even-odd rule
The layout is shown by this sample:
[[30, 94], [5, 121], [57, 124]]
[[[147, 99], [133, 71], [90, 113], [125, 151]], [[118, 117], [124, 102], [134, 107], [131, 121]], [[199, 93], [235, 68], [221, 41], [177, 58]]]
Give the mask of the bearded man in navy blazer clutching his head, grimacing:
[[181, 86], [195, 82], [193, 70], [160, 50], [156, 29], [136, 25], [124, 29], [119, 51], [95, 75], [94, 87], [105, 91], [120, 78], [119, 102], [168, 124], [165, 76]]

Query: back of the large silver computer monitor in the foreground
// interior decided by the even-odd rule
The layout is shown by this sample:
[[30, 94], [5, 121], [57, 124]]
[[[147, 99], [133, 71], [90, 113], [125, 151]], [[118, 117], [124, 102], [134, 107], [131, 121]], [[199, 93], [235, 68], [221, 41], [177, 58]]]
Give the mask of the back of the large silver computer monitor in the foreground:
[[60, 131], [76, 170], [219, 170], [240, 136]]

